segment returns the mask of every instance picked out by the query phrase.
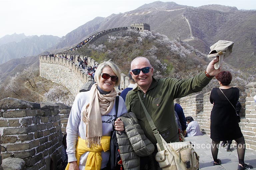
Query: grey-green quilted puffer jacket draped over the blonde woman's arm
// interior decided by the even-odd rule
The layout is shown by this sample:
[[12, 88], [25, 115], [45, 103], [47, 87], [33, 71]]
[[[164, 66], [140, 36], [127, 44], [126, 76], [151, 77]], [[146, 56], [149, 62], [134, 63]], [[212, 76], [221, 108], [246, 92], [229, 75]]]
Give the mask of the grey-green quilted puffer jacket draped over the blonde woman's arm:
[[133, 112], [119, 117], [124, 123], [121, 135], [116, 133], [120, 156], [125, 170], [139, 170], [140, 156], [151, 155], [155, 149], [152, 142], [145, 136]]

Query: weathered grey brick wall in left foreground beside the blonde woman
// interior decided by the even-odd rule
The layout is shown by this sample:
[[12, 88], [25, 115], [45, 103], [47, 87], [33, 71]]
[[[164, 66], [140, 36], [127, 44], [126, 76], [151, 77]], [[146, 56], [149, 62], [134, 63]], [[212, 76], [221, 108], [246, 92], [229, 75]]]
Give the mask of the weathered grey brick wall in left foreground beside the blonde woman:
[[0, 110], [0, 158], [21, 158], [26, 170], [57, 169], [62, 146], [59, 106], [5, 98]]

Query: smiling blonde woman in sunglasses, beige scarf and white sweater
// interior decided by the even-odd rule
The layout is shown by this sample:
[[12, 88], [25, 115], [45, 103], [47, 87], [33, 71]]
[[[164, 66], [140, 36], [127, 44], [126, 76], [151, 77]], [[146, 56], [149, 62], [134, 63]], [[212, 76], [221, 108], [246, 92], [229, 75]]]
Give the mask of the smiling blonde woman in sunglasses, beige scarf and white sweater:
[[[66, 170], [84, 170], [85, 165], [90, 169], [106, 168], [109, 160], [109, 151], [106, 150], [109, 149], [113, 127], [111, 120], [116, 116], [114, 106], [117, 92], [114, 87], [119, 85], [120, 77], [117, 65], [104, 61], [95, 72], [96, 83], [91, 90], [76, 96], [66, 128], [69, 162]], [[117, 117], [124, 113], [127, 113], [125, 103], [119, 97]], [[124, 130], [120, 118], [114, 122], [114, 126], [115, 130]], [[97, 161], [101, 158], [102, 161]]]

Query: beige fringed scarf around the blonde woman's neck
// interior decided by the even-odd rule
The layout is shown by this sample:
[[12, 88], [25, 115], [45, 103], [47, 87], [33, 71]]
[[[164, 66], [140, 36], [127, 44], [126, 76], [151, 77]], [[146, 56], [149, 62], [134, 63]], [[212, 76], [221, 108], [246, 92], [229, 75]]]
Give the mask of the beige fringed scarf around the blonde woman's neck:
[[102, 95], [97, 89], [97, 83], [93, 84], [90, 90], [89, 103], [83, 107], [83, 121], [86, 124], [87, 147], [99, 145], [102, 137], [101, 116], [107, 115], [116, 98], [116, 90], [113, 88], [109, 94]]

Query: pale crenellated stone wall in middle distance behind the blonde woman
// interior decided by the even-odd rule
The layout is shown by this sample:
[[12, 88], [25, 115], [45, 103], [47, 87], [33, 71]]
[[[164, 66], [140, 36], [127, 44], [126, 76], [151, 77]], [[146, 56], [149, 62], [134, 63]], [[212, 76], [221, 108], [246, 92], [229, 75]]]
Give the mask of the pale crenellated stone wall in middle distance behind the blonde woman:
[[[87, 56], [74, 55], [74, 62], [65, 58], [60, 58], [62, 54], [57, 54], [57, 57], [40, 56], [40, 76], [54, 83], [65, 86], [70, 90], [73, 96], [79, 93], [79, 90], [87, 82], [92, 82], [90, 75], [86, 74], [86, 70], [81, 69], [74, 62], [77, 58], [84, 59]], [[67, 55], [70, 58], [70, 55]], [[94, 59], [87, 57], [87, 65], [99, 64]], [[121, 74], [120, 89], [125, 89], [129, 85], [129, 78], [125, 74]]]

